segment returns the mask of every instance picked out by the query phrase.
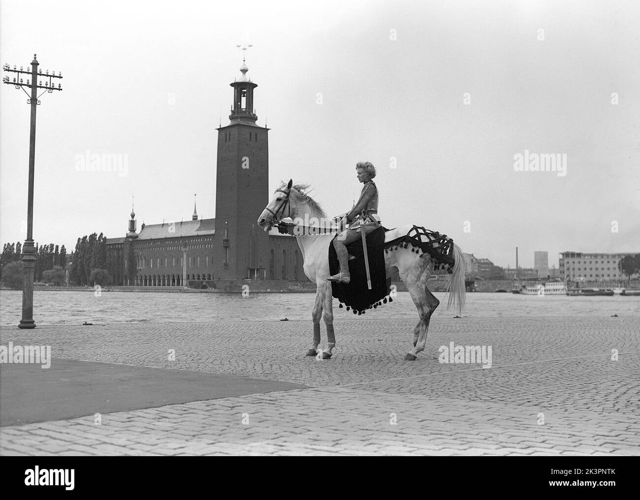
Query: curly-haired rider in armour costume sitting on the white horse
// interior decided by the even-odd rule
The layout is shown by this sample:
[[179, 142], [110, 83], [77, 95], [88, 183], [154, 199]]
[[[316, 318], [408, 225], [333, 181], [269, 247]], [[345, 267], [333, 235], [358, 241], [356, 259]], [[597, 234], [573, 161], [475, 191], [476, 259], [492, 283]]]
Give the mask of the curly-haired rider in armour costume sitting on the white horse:
[[333, 239], [333, 248], [335, 248], [335, 253], [340, 261], [340, 271], [327, 279], [338, 283], [349, 283], [351, 281], [351, 275], [349, 275], [349, 254], [346, 245], [361, 239], [361, 230], [364, 231], [366, 236], [380, 227], [380, 217], [378, 217], [378, 188], [371, 180], [376, 177], [376, 168], [371, 165], [369, 161], [365, 161], [356, 165], [356, 172], [358, 172], [358, 181], [364, 183], [364, 187], [360, 193], [360, 199], [350, 212], [334, 219], [336, 223], [339, 221], [340, 229], [344, 229], [346, 225], [351, 224], [356, 218], [359, 218], [358, 222], [360, 223], [359, 227], [353, 225], [350, 229], [342, 230], [337, 238]]

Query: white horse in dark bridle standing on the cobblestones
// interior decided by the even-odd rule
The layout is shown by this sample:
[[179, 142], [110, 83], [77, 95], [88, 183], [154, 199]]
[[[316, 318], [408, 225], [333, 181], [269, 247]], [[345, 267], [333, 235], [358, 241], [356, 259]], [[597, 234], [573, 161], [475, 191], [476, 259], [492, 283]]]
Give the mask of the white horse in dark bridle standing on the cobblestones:
[[[305, 193], [308, 187], [308, 184], [296, 184], [294, 186], [291, 179], [288, 184], [282, 182], [280, 188], [274, 192], [268, 206], [260, 214], [258, 225], [268, 231], [273, 225], [276, 225], [286, 217], [291, 217], [294, 220], [301, 218], [305, 221], [326, 221], [326, 214], [324, 214], [323, 209], [313, 198]], [[329, 227], [329, 224], [325, 227]], [[412, 227], [413, 225], [410, 224], [388, 230], [385, 234], [385, 242], [405, 236]], [[311, 313], [314, 323], [314, 340], [307, 355], [319, 355], [317, 348], [320, 343], [320, 319], [323, 319], [328, 337], [328, 346], [322, 351], [324, 359], [331, 357], [333, 347], [335, 347], [333, 295], [331, 282], [327, 280], [331, 275], [328, 258], [329, 245], [334, 236], [335, 230], [333, 234], [296, 236], [298, 246], [300, 246], [303, 254], [305, 275], [316, 282], [316, 303]], [[449, 293], [447, 309], [454, 305], [460, 315], [465, 304], [465, 257], [458, 245], [453, 247], [453, 256], [455, 264], [453, 272], [447, 280], [447, 292]], [[435, 260], [431, 255], [419, 255], [418, 252], [412, 252], [410, 248], [404, 248], [402, 245], [394, 252], [385, 252], [387, 276], [391, 276], [396, 272], [399, 273], [401, 280], [406, 284], [411, 294], [420, 316], [420, 321], [413, 328], [413, 349], [404, 357], [405, 360], [415, 360], [417, 354], [424, 350], [429, 319], [436, 307], [440, 305], [440, 301], [433, 296], [427, 287], [434, 264]]]

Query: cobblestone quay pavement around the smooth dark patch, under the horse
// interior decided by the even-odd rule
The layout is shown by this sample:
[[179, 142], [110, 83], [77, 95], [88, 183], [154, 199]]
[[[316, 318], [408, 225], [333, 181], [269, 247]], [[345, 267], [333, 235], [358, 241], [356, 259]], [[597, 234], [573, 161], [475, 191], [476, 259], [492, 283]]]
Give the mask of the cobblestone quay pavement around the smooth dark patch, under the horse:
[[[309, 389], [0, 428], [3, 455], [639, 455], [640, 318], [436, 313], [336, 321], [330, 360], [304, 357], [310, 321], [0, 329], [56, 359], [234, 374]], [[324, 328], [323, 328], [324, 335]], [[492, 367], [438, 348], [492, 346]], [[325, 342], [323, 341], [323, 344]], [[168, 350], [175, 350], [175, 361]], [[618, 360], [612, 360], [612, 350]]]

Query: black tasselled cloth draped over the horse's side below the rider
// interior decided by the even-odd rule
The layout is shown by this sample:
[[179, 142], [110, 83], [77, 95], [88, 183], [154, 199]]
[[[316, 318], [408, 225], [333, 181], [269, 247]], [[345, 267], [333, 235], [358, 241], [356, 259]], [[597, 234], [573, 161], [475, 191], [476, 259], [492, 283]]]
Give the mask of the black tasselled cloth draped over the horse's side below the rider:
[[[341, 303], [353, 308], [354, 312], [362, 312], [370, 309], [374, 303], [382, 300], [388, 292], [387, 273], [385, 271], [385, 232], [387, 229], [380, 226], [371, 234], [367, 234], [367, 254], [369, 255], [369, 273], [371, 274], [371, 290], [367, 287], [367, 270], [364, 264], [364, 251], [362, 239], [347, 245], [349, 252], [349, 284], [332, 282], [331, 288], [335, 298]], [[351, 259], [351, 255], [355, 259]], [[333, 248], [333, 241], [329, 245], [329, 270], [335, 275], [340, 270], [338, 256]], [[386, 301], [385, 301], [386, 302]], [[340, 305], [342, 307], [342, 305]]]

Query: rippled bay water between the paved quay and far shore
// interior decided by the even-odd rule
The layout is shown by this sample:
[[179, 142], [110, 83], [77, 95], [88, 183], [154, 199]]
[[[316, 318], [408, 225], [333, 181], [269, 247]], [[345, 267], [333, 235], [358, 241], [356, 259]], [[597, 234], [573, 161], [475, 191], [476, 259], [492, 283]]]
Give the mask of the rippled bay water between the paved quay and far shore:
[[[445, 311], [444, 293], [436, 314]], [[214, 319], [278, 320], [310, 319], [313, 293], [254, 293], [248, 297], [225, 293], [161, 293], [93, 291], [34, 291], [33, 319], [36, 325], [81, 325], [138, 321], [212, 321]], [[22, 292], [0, 291], [0, 325], [16, 326], [22, 316]], [[333, 301], [335, 319], [360, 319]], [[518, 295], [511, 293], [467, 293], [463, 316], [640, 316], [640, 296]], [[366, 319], [417, 318], [408, 292], [398, 292], [393, 303], [367, 311]]]

